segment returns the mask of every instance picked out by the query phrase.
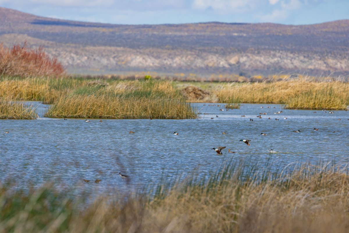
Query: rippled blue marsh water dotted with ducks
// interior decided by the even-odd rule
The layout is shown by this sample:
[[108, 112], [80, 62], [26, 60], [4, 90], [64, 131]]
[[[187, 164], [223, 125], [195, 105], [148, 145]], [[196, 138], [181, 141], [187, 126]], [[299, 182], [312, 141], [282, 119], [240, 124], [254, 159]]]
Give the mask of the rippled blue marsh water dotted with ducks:
[[[198, 119], [85, 122], [45, 118], [48, 105], [29, 104], [36, 106], [37, 120], [0, 120], [1, 181], [129, 190], [186, 174], [207, 176], [242, 160], [259, 169], [266, 163], [283, 169], [305, 162], [349, 162], [349, 111], [287, 110], [278, 104], [243, 104], [226, 111], [224, 104], [197, 103], [192, 105], [201, 112]], [[218, 146], [227, 147], [223, 155], [212, 150]]]

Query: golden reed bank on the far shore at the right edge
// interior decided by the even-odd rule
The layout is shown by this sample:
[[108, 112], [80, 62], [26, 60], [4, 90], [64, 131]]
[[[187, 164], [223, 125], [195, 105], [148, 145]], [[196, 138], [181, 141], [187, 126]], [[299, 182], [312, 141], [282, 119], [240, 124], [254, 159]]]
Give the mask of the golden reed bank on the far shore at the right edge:
[[216, 88], [220, 102], [281, 103], [291, 109], [343, 110], [349, 105], [349, 83], [303, 80], [232, 83]]

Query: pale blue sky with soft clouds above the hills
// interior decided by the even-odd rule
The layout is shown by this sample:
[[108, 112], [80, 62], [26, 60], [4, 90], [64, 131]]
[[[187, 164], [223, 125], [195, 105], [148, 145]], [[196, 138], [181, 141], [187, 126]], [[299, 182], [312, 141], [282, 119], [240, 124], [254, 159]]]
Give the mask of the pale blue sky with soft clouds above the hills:
[[349, 19], [349, 0], [0, 0], [0, 6], [58, 19], [116, 24], [313, 24]]

